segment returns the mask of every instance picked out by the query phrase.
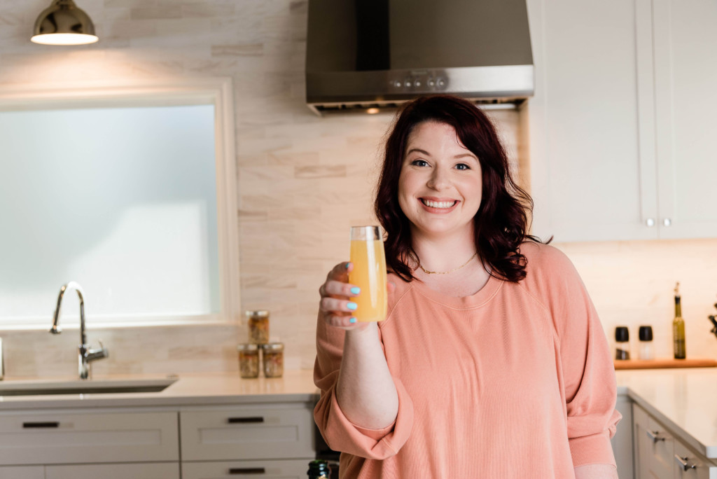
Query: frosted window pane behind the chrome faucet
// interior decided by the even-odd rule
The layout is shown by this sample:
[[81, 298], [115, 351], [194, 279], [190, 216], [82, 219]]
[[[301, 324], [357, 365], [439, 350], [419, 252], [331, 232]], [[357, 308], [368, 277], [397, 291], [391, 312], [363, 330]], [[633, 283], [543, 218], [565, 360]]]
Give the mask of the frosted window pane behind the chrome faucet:
[[214, 105], [0, 112], [0, 156], [0, 318], [219, 311]]

